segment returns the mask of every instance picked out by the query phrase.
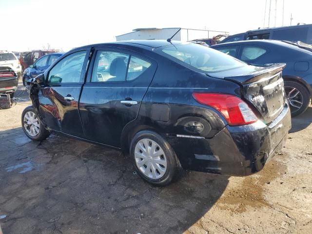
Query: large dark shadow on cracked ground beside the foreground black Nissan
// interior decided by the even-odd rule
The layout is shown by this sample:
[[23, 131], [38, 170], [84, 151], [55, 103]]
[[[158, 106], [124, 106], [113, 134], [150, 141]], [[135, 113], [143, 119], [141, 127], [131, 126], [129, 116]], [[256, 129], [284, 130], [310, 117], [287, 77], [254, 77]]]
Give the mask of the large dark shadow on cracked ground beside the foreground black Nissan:
[[120, 152], [21, 128], [0, 132], [3, 233], [172, 233], [187, 230], [222, 195], [228, 177], [187, 173], [154, 187]]

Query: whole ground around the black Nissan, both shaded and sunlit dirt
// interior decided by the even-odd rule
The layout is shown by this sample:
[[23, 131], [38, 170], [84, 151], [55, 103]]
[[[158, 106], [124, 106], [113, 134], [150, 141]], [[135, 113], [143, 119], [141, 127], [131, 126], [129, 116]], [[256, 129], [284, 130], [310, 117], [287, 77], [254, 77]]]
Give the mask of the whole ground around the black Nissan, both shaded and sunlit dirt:
[[30, 141], [20, 124], [30, 102], [22, 87], [17, 96], [0, 110], [3, 234], [312, 233], [312, 106], [261, 172], [188, 172], [159, 188], [118, 151], [57, 135]]

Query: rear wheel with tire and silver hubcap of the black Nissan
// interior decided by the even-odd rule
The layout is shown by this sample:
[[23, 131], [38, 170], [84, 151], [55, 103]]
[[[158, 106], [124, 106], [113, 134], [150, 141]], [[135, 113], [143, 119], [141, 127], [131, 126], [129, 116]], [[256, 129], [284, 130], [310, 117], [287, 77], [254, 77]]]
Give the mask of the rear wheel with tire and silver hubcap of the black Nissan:
[[[145, 144], [148, 144], [151, 150], [154, 147], [154, 152], [153, 150], [151, 152], [159, 156], [151, 156], [152, 154], [146, 153], [150, 151], [144, 148]], [[145, 153], [141, 149], [146, 150]], [[139, 158], [143, 154], [150, 156]], [[169, 143], [152, 131], [141, 131], [134, 136], [130, 144], [130, 156], [138, 175], [145, 181], [157, 186], [165, 186], [172, 183], [180, 178], [183, 172], [179, 159]], [[145, 158], [144, 162], [142, 162], [144, 160], [143, 157]], [[152, 169], [154, 169], [154, 173]]]

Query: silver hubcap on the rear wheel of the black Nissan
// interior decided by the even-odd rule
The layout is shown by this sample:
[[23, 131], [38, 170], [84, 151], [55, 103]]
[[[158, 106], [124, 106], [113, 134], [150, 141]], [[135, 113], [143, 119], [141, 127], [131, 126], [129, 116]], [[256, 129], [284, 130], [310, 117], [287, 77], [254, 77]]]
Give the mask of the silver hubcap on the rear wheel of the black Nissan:
[[141, 139], [135, 148], [137, 168], [151, 179], [159, 179], [167, 170], [167, 159], [161, 147], [151, 139]]

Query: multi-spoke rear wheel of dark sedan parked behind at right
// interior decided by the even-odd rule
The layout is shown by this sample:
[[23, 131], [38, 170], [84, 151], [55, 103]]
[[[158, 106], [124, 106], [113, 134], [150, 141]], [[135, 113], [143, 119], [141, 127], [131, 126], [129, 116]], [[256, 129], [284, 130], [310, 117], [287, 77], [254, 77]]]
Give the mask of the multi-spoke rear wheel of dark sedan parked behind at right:
[[[287, 80], [284, 82], [284, 87], [291, 107], [292, 117], [298, 116], [305, 112], [310, 104], [311, 98], [307, 88], [296, 81]], [[297, 91], [299, 93], [295, 97], [292, 97], [297, 93]]]

